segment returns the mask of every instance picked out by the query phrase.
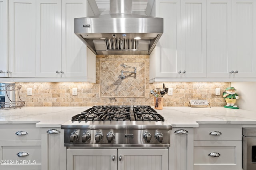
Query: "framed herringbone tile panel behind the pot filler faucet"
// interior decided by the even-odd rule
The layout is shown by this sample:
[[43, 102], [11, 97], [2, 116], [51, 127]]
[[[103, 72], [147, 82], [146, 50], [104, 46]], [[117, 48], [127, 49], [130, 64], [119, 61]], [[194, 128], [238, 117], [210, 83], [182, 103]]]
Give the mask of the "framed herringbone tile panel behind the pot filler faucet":
[[[124, 72], [121, 79], [121, 70], [134, 72], [121, 64], [136, 67], [136, 74]], [[100, 97], [145, 98], [145, 86], [145, 62], [100, 62]]]

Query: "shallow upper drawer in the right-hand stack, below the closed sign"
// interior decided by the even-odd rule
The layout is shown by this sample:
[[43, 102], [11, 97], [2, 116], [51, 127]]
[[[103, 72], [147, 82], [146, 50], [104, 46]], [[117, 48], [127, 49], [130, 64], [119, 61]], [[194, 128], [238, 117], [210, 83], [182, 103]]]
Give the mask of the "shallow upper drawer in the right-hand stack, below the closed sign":
[[[211, 132], [220, 132], [221, 135], [210, 135]], [[242, 125], [200, 124], [194, 128], [194, 140], [242, 140]]]

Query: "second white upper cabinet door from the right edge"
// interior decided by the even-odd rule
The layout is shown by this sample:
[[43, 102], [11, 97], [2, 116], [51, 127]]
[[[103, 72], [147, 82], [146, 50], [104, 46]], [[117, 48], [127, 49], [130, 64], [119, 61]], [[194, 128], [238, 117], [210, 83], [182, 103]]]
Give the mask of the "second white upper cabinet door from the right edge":
[[228, 77], [232, 70], [232, 0], [207, 0], [207, 76]]

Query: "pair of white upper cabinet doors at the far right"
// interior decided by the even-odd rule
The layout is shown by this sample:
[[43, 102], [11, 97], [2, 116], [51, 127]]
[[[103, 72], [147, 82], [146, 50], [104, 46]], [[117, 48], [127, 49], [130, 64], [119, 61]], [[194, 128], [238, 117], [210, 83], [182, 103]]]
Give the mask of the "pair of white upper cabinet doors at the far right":
[[256, 2], [207, 0], [207, 76], [256, 76]]

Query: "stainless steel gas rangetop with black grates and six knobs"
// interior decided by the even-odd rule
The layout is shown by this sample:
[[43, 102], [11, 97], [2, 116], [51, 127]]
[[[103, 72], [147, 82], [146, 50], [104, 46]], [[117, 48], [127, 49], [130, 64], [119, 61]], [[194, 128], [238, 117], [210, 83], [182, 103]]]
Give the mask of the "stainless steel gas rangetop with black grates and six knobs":
[[170, 147], [172, 125], [150, 106], [93, 106], [61, 129], [67, 147]]

